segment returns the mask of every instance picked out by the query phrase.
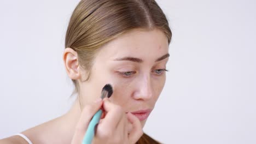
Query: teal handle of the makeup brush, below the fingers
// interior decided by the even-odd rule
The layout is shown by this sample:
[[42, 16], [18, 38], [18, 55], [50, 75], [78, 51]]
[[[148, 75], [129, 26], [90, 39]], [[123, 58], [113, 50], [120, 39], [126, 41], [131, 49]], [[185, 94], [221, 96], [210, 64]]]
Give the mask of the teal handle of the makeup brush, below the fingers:
[[102, 110], [98, 110], [94, 117], [92, 117], [91, 122], [88, 125], [88, 129], [85, 133], [84, 139], [83, 139], [83, 144], [91, 144], [92, 139], [94, 139], [94, 127], [95, 125], [100, 122], [101, 119], [101, 114], [102, 114]]

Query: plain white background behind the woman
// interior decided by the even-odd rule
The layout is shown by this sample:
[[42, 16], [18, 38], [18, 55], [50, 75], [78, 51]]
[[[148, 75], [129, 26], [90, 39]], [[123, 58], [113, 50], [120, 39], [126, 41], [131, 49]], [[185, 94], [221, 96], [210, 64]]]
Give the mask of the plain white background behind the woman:
[[[173, 32], [170, 72], [144, 131], [164, 143], [256, 143], [256, 2], [157, 2]], [[62, 52], [77, 3], [0, 2], [0, 139], [72, 104]]]

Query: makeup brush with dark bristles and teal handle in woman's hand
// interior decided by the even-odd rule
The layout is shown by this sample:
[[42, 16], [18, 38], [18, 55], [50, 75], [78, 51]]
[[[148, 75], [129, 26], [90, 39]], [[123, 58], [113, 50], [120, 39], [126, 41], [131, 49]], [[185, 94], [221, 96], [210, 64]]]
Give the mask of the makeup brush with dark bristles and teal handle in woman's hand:
[[[112, 86], [110, 84], [105, 85], [101, 91], [101, 99], [104, 99], [106, 97], [110, 98], [112, 93], [113, 93]], [[82, 144], [91, 144], [92, 139], [94, 139], [94, 135], [95, 135], [95, 125], [97, 125], [98, 122], [100, 121], [101, 115], [102, 115], [102, 110], [98, 110], [95, 113], [94, 117], [92, 117], [91, 122], [88, 125], [88, 129], [85, 132]]]

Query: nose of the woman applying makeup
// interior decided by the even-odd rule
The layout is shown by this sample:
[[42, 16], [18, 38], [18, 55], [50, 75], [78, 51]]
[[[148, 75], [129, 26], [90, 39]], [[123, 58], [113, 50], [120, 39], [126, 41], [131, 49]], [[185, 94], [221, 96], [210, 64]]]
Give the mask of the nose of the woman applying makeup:
[[137, 92], [134, 95], [136, 100], [149, 100], [153, 98], [153, 87], [150, 76], [143, 76], [142, 80], [138, 82]]

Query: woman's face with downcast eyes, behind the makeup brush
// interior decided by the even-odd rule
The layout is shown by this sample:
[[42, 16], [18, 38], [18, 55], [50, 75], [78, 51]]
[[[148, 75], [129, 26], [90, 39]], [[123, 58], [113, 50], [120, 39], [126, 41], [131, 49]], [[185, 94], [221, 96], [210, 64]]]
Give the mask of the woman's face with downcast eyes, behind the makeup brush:
[[100, 98], [110, 83], [110, 100], [125, 112], [136, 112], [144, 127], [165, 85], [168, 56], [167, 37], [158, 29], [133, 30], [110, 41], [97, 52], [90, 79], [79, 82], [82, 104]]

